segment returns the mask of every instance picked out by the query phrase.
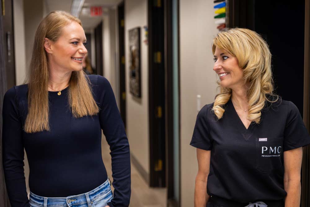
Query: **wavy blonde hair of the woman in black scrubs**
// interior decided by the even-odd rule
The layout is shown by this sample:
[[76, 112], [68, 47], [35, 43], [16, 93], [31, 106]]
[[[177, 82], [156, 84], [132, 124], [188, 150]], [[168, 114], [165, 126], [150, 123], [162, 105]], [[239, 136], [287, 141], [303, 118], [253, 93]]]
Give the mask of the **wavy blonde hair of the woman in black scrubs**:
[[[250, 29], [233, 28], [219, 32], [212, 43], [212, 52], [218, 47], [227, 51], [238, 60], [238, 65], [243, 69], [243, 83], [249, 85], [247, 99], [249, 114], [247, 119], [260, 123], [261, 110], [265, 102], [276, 102], [278, 96], [273, 93], [273, 78], [271, 71], [271, 53], [268, 44], [256, 32]], [[220, 93], [215, 96], [212, 110], [218, 119], [224, 114], [224, 108], [231, 95], [232, 89], [220, 86]], [[270, 97], [277, 97], [270, 100]]]

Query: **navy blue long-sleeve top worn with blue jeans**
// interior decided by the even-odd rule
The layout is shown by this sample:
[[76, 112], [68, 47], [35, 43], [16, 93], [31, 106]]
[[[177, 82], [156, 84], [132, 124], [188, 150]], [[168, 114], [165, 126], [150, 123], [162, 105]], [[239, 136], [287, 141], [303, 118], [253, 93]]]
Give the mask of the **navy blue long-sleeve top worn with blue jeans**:
[[79, 195], [107, 179], [101, 155], [101, 129], [112, 157], [111, 207], [128, 206], [131, 194], [130, 154], [124, 124], [107, 79], [88, 75], [99, 114], [74, 118], [68, 89], [48, 92], [50, 131], [26, 133], [28, 86], [9, 89], [3, 100], [3, 168], [12, 207], [29, 207], [24, 177], [24, 149], [29, 162], [29, 188], [44, 197]]

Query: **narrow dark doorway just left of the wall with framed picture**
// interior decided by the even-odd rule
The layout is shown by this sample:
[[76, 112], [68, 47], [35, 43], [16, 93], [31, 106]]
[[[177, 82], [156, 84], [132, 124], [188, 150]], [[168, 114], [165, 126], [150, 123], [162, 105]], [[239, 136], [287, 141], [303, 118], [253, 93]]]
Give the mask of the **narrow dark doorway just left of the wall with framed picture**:
[[126, 129], [126, 74], [125, 74], [125, 11], [124, 2], [117, 6], [118, 11], [118, 43], [119, 43], [119, 107]]

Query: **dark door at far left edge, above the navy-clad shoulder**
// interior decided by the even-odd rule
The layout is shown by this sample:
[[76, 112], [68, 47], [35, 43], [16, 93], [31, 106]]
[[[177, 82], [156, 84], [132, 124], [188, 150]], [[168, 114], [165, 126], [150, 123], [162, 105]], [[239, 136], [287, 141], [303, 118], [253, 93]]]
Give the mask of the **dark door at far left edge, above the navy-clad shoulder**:
[[[4, 2], [4, 1], [2, 1]], [[3, 52], [7, 77], [7, 88], [16, 85], [15, 82], [15, 51], [14, 51], [14, 26], [13, 26], [13, 1], [7, 0], [4, 3], [5, 15], [2, 16], [3, 29]]]

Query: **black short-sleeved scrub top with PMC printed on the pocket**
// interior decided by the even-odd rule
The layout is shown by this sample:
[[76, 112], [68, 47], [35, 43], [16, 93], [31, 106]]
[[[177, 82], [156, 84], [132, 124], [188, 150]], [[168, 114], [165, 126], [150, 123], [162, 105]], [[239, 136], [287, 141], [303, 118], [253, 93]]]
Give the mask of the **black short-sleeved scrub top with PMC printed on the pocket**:
[[213, 104], [198, 113], [190, 143], [211, 150], [208, 195], [242, 203], [285, 198], [283, 152], [310, 144], [298, 108], [281, 99], [266, 104], [260, 124], [246, 129], [231, 99], [219, 120]]

